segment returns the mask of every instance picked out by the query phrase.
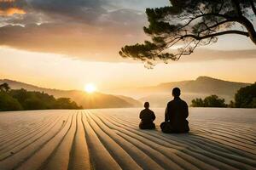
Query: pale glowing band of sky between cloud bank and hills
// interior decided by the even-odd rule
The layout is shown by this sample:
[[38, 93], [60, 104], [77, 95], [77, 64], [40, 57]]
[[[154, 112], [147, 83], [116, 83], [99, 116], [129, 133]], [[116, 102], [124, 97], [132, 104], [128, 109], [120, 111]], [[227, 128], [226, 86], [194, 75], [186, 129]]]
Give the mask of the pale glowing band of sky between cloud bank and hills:
[[217, 77], [236, 82], [255, 82], [256, 58], [215, 59], [159, 64], [153, 70], [142, 63], [88, 62], [58, 54], [32, 53], [0, 48], [0, 78], [27, 82], [45, 88], [84, 89], [90, 82], [100, 91], [131, 88], [195, 79]]

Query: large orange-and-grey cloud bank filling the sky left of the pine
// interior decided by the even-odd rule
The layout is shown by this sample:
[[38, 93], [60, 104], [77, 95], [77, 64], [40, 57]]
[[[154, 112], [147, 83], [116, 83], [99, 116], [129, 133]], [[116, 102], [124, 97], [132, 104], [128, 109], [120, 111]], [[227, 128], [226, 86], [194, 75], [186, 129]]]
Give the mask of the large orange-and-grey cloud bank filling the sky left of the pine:
[[[129, 62], [119, 57], [118, 52], [125, 44], [147, 38], [143, 33], [143, 26], [147, 25], [145, 8], [168, 3], [166, 0], [0, 0], [0, 46], [94, 61]], [[218, 54], [203, 57], [204, 53], [198, 52], [195, 59], [227, 58]]]

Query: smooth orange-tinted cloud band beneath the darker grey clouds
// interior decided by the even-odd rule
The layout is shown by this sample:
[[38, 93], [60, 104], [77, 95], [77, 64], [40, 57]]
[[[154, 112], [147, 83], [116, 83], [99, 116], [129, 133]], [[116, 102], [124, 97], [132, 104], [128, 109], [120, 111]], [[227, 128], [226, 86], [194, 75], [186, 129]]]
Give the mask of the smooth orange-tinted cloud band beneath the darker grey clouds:
[[111, 24], [101, 21], [96, 25], [45, 23], [39, 26], [3, 26], [0, 28], [0, 45], [86, 60], [120, 61], [119, 48], [125, 43], [143, 39], [144, 34], [136, 25], [121, 24], [112, 17], [108, 20], [104, 22]]

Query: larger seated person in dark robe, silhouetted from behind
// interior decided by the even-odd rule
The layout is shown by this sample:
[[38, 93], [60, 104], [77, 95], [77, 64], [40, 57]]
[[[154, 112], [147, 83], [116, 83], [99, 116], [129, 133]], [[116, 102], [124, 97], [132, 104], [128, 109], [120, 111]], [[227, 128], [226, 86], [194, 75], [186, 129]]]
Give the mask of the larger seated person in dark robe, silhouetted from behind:
[[172, 96], [174, 99], [167, 104], [165, 122], [160, 124], [163, 133], [188, 133], [189, 122], [186, 118], [189, 116], [188, 105], [179, 98], [180, 89], [173, 88]]

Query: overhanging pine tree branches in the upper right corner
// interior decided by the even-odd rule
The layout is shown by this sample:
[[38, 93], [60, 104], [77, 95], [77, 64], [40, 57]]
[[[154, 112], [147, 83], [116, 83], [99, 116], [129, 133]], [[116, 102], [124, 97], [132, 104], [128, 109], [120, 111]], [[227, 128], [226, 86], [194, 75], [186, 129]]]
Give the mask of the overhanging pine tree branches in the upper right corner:
[[[144, 32], [152, 42], [125, 46], [124, 58], [142, 60], [152, 68], [156, 59], [165, 63], [192, 54], [195, 48], [217, 42], [218, 37], [237, 34], [256, 45], [252, 20], [256, 0], [170, 0], [172, 6], [147, 8], [149, 26]], [[171, 48], [177, 48], [172, 52]]]

